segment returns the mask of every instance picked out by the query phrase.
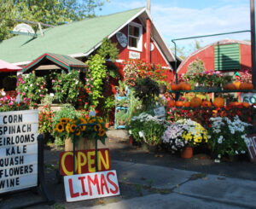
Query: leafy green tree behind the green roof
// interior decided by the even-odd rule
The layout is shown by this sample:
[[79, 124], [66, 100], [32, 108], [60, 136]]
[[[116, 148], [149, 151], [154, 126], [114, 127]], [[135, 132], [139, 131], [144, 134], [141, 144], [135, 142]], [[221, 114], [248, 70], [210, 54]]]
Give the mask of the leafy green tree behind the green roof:
[[[106, 0], [108, 2], [108, 0]], [[32, 20], [51, 25], [95, 16], [105, 0], [2, 0], [0, 1], [0, 41], [10, 38], [17, 22]], [[37, 29], [37, 26], [33, 26]]]

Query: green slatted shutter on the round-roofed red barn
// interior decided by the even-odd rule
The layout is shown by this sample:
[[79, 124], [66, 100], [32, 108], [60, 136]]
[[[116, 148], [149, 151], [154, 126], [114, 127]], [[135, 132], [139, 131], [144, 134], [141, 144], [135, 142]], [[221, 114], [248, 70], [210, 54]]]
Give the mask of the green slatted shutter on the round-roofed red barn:
[[240, 70], [239, 44], [214, 46], [214, 68], [218, 71]]

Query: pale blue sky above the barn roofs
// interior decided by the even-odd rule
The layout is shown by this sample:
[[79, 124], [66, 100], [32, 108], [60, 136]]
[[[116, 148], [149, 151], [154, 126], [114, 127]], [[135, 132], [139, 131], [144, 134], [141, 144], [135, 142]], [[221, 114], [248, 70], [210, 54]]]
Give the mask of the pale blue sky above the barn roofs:
[[[110, 0], [96, 15], [109, 15], [129, 9], [146, 7], [147, 0]], [[154, 25], [173, 47], [172, 39], [214, 33], [250, 30], [250, 0], [151, 0]], [[201, 46], [232, 38], [250, 40], [250, 33], [196, 38]], [[195, 50], [195, 39], [177, 41], [186, 55]]]

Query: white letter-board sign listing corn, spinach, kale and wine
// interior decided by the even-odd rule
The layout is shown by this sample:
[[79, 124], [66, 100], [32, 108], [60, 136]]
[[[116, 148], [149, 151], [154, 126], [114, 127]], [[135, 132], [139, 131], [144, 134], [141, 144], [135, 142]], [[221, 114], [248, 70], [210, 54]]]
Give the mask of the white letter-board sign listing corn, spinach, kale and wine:
[[0, 194], [38, 185], [38, 110], [0, 113]]

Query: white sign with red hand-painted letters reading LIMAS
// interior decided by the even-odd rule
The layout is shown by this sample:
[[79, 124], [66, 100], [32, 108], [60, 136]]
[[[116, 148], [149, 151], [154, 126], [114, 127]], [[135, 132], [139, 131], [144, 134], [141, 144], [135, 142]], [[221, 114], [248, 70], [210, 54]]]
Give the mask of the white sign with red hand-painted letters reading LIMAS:
[[67, 202], [119, 195], [116, 171], [102, 171], [64, 177]]

